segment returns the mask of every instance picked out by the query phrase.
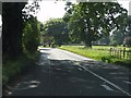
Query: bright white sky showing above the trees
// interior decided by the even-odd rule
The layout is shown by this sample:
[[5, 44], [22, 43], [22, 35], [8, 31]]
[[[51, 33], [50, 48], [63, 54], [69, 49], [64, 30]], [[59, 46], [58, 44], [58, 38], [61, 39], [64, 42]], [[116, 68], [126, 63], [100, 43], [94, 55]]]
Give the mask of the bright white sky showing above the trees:
[[[129, 2], [130, 0], [119, 0], [118, 1], [122, 7], [127, 10], [129, 10]], [[40, 11], [37, 13], [37, 20], [40, 22], [45, 22], [49, 19], [58, 19], [62, 17], [66, 13], [64, 5], [66, 2], [58, 1], [55, 3], [55, 1], [41, 1], [40, 2]]]

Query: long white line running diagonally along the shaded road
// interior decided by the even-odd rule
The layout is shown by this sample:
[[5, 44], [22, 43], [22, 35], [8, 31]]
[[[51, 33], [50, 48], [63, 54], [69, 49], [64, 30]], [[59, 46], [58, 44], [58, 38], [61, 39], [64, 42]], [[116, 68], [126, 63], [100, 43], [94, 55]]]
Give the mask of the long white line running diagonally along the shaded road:
[[79, 65], [79, 66], [80, 66], [80, 68], [83, 68], [85, 71], [90, 72], [91, 74], [93, 74], [94, 76], [98, 77], [99, 79], [105, 81], [106, 83], [110, 84], [111, 86], [114, 86], [115, 88], [119, 89], [119, 90], [122, 91], [123, 94], [126, 94], [126, 95], [128, 95], [128, 96], [131, 96], [131, 94], [124, 91], [122, 88], [120, 88], [120, 87], [117, 86], [116, 84], [109, 82], [108, 79], [106, 79], [106, 78], [97, 75], [96, 73], [90, 71], [88, 69], [86, 69], [86, 68], [84, 68], [84, 66], [82, 66], [82, 65]]

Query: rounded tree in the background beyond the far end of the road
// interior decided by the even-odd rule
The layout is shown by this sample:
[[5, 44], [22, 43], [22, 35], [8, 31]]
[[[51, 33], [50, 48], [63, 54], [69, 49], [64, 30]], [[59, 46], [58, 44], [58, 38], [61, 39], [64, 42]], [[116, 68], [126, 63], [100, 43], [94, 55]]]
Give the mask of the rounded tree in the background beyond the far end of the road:
[[44, 24], [44, 41], [61, 46], [69, 40], [67, 23], [61, 19], [50, 19]]

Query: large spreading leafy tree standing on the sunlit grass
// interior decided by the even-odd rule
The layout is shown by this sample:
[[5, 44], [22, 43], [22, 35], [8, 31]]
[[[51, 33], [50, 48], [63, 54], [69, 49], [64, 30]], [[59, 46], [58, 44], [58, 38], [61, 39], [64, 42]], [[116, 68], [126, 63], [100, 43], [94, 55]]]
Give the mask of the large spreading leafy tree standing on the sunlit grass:
[[92, 41], [100, 38], [102, 34], [119, 28], [116, 19], [127, 14], [127, 10], [117, 2], [78, 2], [68, 3], [64, 21], [68, 21], [70, 34], [79, 37], [86, 47], [92, 48]]

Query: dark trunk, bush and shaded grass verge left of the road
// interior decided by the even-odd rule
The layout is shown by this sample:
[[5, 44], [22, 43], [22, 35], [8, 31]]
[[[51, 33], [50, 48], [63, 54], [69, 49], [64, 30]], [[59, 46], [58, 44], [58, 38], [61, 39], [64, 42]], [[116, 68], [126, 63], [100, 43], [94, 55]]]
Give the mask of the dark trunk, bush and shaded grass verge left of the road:
[[[35, 3], [35, 2], [34, 2]], [[2, 87], [34, 68], [39, 59], [37, 47], [39, 45], [40, 22], [23, 9], [26, 2], [2, 3]], [[26, 10], [26, 11], [27, 11]], [[32, 11], [34, 11], [32, 9]], [[15, 12], [15, 13], [14, 13]], [[24, 14], [23, 14], [24, 13]]]

